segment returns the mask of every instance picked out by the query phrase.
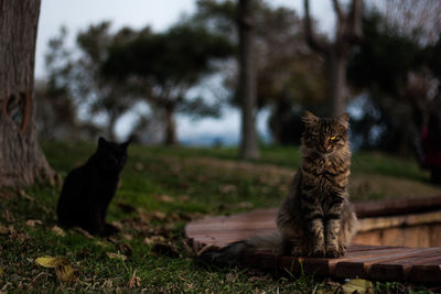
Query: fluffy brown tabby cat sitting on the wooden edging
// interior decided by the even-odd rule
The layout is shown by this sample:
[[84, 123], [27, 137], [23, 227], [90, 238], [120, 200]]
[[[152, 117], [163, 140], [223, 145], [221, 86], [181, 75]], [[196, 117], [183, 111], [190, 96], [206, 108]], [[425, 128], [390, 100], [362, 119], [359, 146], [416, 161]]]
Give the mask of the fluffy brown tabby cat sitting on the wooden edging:
[[247, 248], [278, 254], [338, 258], [356, 232], [357, 219], [348, 200], [351, 150], [348, 115], [303, 117], [302, 163], [290, 194], [277, 216], [278, 232], [252, 236], [203, 258], [234, 265]]

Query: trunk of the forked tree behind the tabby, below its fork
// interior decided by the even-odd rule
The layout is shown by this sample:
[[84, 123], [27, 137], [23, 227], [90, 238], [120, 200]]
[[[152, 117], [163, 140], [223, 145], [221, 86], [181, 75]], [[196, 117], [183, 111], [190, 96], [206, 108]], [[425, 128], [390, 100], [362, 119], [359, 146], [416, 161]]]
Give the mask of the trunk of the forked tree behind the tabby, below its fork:
[[337, 117], [345, 111], [346, 106], [346, 62], [347, 57], [343, 56], [335, 48], [331, 48], [326, 56], [329, 63], [329, 80], [330, 80], [330, 110], [332, 117]]

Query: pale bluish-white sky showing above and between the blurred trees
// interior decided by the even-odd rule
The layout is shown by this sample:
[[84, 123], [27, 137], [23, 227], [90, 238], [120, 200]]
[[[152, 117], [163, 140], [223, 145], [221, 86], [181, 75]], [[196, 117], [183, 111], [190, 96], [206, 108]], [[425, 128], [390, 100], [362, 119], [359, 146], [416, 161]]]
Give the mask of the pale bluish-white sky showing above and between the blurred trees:
[[[271, 0], [273, 6], [286, 6], [302, 11], [301, 0]], [[319, 29], [329, 31], [333, 26], [331, 0], [311, 1], [313, 15], [320, 19]], [[122, 26], [133, 29], [150, 25], [159, 32], [175, 23], [182, 15], [195, 11], [195, 0], [42, 0], [35, 53], [35, 76], [44, 77], [44, 54], [47, 42], [60, 32], [62, 25], [67, 28], [67, 45], [72, 46], [79, 30], [89, 24], [108, 20], [112, 29]], [[269, 111], [262, 111], [257, 121], [259, 133], [268, 137], [267, 118]], [[122, 139], [133, 123], [133, 116], [123, 116], [117, 123], [117, 135]], [[192, 120], [178, 117], [178, 137], [183, 140], [197, 140], [211, 137], [228, 137], [237, 141], [240, 131], [240, 115], [237, 109], [226, 108], [220, 119]]]

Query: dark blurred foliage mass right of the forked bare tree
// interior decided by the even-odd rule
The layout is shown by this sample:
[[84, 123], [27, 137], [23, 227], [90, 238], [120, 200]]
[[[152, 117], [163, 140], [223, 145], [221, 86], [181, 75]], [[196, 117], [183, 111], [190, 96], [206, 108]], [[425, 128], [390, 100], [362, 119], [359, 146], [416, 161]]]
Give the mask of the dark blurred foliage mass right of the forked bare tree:
[[[394, 14], [395, 15], [395, 14]], [[440, 112], [437, 44], [422, 44], [415, 33], [388, 24], [388, 14], [366, 10], [364, 40], [353, 54], [347, 76], [358, 95], [352, 107], [354, 141], [362, 148], [409, 153], [419, 143], [429, 111]], [[438, 50], [438, 52], [437, 52]]]

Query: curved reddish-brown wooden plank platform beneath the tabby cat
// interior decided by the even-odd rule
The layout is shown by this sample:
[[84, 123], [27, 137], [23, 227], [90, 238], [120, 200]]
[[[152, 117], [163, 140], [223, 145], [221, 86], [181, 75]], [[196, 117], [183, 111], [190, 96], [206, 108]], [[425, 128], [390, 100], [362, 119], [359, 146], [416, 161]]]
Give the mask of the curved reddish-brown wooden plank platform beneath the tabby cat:
[[[438, 204], [432, 203], [432, 208], [438, 208], [433, 207]], [[366, 210], [366, 204], [359, 207]], [[385, 210], [384, 206], [378, 207], [378, 210]], [[358, 205], [356, 209], [358, 210]], [[378, 215], [373, 210], [367, 209], [366, 213], [363, 209], [359, 208], [359, 217]], [[255, 233], [273, 232], [276, 214], [276, 209], [260, 209], [233, 216], [204, 218], [187, 224], [185, 233], [187, 238], [193, 239], [196, 250], [205, 246], [223, 248]], [[293, 272], [300, 272], [302, 263], [306, 273], [318, 275], [441, 283], [441, 247], [352, 244], [346, 254], [340, 259], [294, 258], [275, 255], [269, 252], [247, 251], [241, 263], [262, 270], [290, 270]]]

